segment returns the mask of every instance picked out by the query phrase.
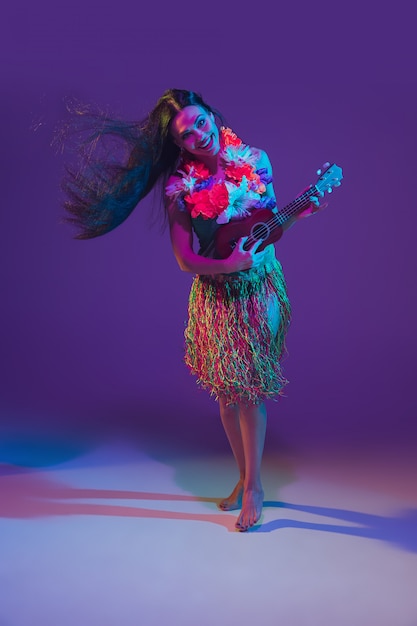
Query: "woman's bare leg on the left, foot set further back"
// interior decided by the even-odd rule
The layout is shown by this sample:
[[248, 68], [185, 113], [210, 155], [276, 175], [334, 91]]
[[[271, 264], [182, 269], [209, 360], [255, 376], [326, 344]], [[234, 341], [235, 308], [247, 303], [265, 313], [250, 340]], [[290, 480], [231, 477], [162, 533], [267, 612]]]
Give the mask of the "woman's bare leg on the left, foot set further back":
[[223, 511], [232, 511], [234, 509], [240, 509], [242, 506], [243, 483], [245, 480], [245, 454], [239, 425], [239, 407], [236, 404], [227, 406], [226, 400], [223, 397], [219, 398], [219, 407], [223, 428], [239, 469], [239, 480], [230, 496], [221, 500], [218, 506]]

